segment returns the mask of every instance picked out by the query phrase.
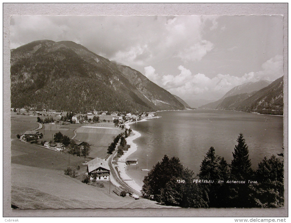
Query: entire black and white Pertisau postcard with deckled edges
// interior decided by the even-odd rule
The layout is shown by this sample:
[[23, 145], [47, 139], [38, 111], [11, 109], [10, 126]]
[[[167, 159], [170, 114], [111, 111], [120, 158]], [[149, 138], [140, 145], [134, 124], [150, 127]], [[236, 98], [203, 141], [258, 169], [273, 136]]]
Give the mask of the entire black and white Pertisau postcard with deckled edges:
[[283, 208], [283, 16], [10, 18], [11, 207]]

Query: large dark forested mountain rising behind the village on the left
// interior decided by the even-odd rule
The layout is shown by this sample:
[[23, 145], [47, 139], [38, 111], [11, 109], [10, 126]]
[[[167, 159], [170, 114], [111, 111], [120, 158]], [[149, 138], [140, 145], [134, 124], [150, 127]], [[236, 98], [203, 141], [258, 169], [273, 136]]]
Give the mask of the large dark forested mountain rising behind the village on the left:
[[183, 110], [140, 72], [71, 41], [39, 40], [11, 50], [11, 106], [37, 110]]

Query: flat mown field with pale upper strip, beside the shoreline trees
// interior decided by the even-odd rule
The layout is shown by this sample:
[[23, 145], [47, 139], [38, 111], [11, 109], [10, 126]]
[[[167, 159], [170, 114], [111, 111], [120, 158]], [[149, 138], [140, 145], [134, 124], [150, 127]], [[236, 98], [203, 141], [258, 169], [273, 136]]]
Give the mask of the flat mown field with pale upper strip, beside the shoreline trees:
[[124, 130], [110, 128], [78, 128], [75, 139], [91, 144], [90, 157], [104, 159], [107, 154], [108, 144]]

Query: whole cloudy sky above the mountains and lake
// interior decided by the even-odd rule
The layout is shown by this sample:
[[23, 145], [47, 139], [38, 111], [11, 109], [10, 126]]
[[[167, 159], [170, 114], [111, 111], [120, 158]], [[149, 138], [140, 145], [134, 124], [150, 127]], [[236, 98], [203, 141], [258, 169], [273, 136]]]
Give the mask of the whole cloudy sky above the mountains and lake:
[[40, 39], [82, 44], [190, 106], [283, 75], [282, 16], [11, 17], [11, 49]]

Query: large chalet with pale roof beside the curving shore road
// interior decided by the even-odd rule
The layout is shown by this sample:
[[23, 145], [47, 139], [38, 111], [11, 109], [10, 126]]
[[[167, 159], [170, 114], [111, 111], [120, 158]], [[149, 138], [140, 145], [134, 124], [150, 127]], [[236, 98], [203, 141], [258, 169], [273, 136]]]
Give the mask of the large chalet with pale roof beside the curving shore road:
[[91, 180], [96, 175], [97, 181], [109, 181], [110, 168], [104, 159], [95, 158], [88, 162], [87, 172]]

